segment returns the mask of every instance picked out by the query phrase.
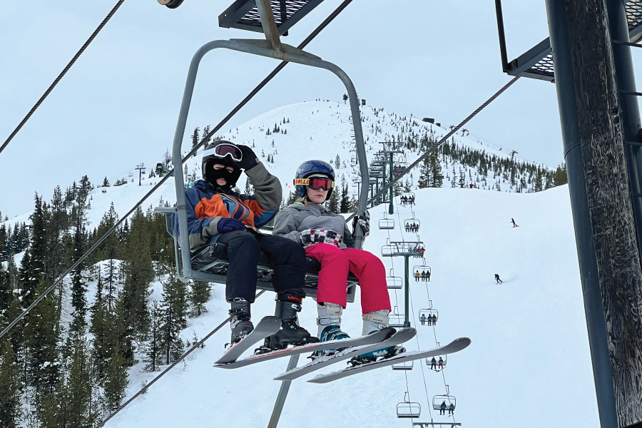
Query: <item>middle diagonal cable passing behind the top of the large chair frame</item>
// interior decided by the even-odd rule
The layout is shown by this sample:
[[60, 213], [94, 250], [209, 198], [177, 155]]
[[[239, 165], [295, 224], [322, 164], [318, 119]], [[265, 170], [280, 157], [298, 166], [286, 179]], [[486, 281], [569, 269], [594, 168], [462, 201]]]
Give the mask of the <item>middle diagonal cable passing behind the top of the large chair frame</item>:
[[[122, 1], [124, 1], [124, 0], [122, 0]], [[299, 46], [297, 46], [297, 49], [305, 48], [305, 46], [307, 46], [307, 44], [309, 44], [310, 41], [312, 41], [312, 39], [314, 39], [322, 31], [322, 29], [325, 29], [325, 27], [327, 27], [328, 24], [330, 24], [330, 22], [332, 22], [343, 11], [343, 9], [345, 9], [347, 7], [347, 5], [350, 4], [350, 3], [352, 3], [352, 0], [344, 0], [342, 2], [342, 4], [340, 4], [337, 7], [337, 9], [335, 9], [335, 11], [332, 11], [332, 14], [330, 14], [330, 16], [328, 16], [325, 19], [325, 21], [323, 21], [319, 26], [317, 26], [317, 28], [314, 31], [312, 31], [312, 33], [310, 33], [310, 36], [307, 36], [305, 38], [305, 40], [302, 41], [301, 44], [299, 44]], [[210, 133], [208, 133], [207, 136], [203, 137], [203, 139], [200, 141], [200, 143], [198, 143], [198, 145], [196, 145], [195, 148], [193, 148], [183, 158], [183, 162], [188, 161], [188, 159], [191, 156], [195, 155], [196, 151], [199, 148], [201, 148], [205, 144], [205, 142], [208, 141], [216, 132], [218, 132], [220, 130], [220, 128], [223, 128], [225, 123], [227, 123], [230, 120], [230, 118], [232, 118], [232, 116], [234, 116], [241, 108], [243, 108], [243, 106], [245, 106], [245, 104], [247, 104], [258, 93], [258, 91], [263, 89], [263, 87], [265, 85], [267, 85], [267, 83], [270, 82], [272, 80], [272, 78], [274, 78], [274, 76], [276, 76], [277, 73], [279, 73], [279, 71], [281, 71], [287, 65], [288, 62], [289, 61], [281, 61], [281, 63], [274, 70], [272, 70], [272, 72], [270, 74], [268, 74], [267, 77], [264, 78], [263, 81], [261, 81], [261, 83], [259, 83], [253, 89], [253, 91], [248, 94], [248, 96], [243, 98], [243, 101], [238, 103], [238, 105], [235, 108], [233, 108], [233, 110], [230, 111], [230, 113], [228, 113], [228, 116], [225, 116], [225, 118], [223, 118], [223, 120], [220, 121], [220, 123], [218, 123], [218, 125], [215, 126], [212, 129], [212, 131], [210, 131]], [[101, 236], [101, 238], [98, 239], [96, 241], [96, 243], [94, 243], [91, 246], [91, 248], [89, 248], [89, 250], [87, 250], [87, 252], [85, 254], [83, 254], [82, 257], [79, 258], [76, 261], [76, 263], [73, 263], [73, 265], [71, 267], [69, 267], [68, 270], [66, 270], [66, 272], [64, 272], [63, 275], [61, 275], [61, 277], [59, 277], [56, 280], [56, 282], [54, 282], [51, 285], [51, 287], [49, 287], [47, 290], [45, 290], [44, 293], [42, 293], [36, 300], [34, 300], [34, 302], [31, 303], [31, 305], [29, 305], [29, 307], [27, 307], [26, 310], [24, 310], [24, 312], [22, 312], [19, 315], [19, 317], [17, 317], [15, 320], [11, 321], [11, 324], [9, 324], [4, 330], [2, 330], [2, 332], [0, 332], [0, 338], [3, 337], [4, 335], [6, 335], [6, 333], [9, 332], [9, 330], [11, 330], [11, 328], [13, 328], [14, 325], [16, 325], [22, 318], [24, 318], [24, 316], [27, 315], [41, 300], [43, 300], [44, 297], [46, 297], [46, 295], [48, 295], [52, 290], [54, 290], [56, 288], [56, 285], [58, 285], [63, 280], [64, 277], [66, 277], [69, 273], [71, 273], [74, 269], [76, 269], [76, 267], [78, 267], [78, 265], [80, 265], [83, 262], [83, 260], [85, 260], [87, 258], [88, 255], [93, 253], [93, 250], [96, 250], [96, 248], [98, 248], [98, 245], [101, 245], [103, 240], [106, 240], [108, 235], [111, 235], [111, 233], [113, 233], [114, 230], [116, 230], [126, 220], [126, 218], [128, 218], [131, 214], [133, 214], [133, 212], [136, 210], [136, 208], [138, 208], [141, 205], [143, 205], [143, 202], [145, 202], [147, 200], [147, 198], [149, 198], [152, 195], [152, 193], [154, 193], [156, 190], [158, 190], [158, 188], [160, 188], [161, 185], [163, 183], [165, 183], [165, 181], [167, 181], [168, 178], [170, 178], [170, 176], [172, 175], [173, 171], [174, 171], [174, 168], [172, 168], [168, 172], [168, 174], [165, 175], [165, 177], [163, 177], [161, 179], [161, 181], [158, 182], [157, 185], [155, 185], [153, 188], [151, 188], [151, 190], [148, 193], [146, 193], [146, 195], [143, 196], [143, 198], [141, 200], [139, 200], [138, 203], [136, 203], [136, 205], [134, 205], [133, 208], [131, 208], [131, 210], [129, 210], [128, 213], [126, 213], [126, 215], [123, 216], [123, 218], [121, 218], [121, 220], [118, 220], [118, 222], [115, 225], [113, 225], [113, 227], [111, 229], [109, 229], [103, 236]]]

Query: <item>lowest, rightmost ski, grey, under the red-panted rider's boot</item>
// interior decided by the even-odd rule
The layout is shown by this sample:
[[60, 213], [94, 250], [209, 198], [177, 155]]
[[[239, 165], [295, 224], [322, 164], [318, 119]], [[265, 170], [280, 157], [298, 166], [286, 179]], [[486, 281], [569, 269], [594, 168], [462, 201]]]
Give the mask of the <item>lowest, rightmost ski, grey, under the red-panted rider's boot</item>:
[[399, 364], [400, 362], [419, 360], [419, 358], [428, 358], [437, 355], [452, 354], [465, 349], [468, 345], [470, 345], [470, 339], [468, 337], [459, 337], [459, 339], [453, 340], [448, 345], [436, 347], [432, 350], [403, 352], [402, 354], [395, 355], [394, 357], [386, 358], [384, 360], [378, 360], [364, 365], [358, 365], [356, 367], [348, 367], [347, 369], [339, 370], [338, 372], [319, 374], [307, 382], [317, 384], [328, 383], [337, 379], [342, 379], [343, 377], [352, 376], [352, 374], [363, 373], [369, 370], [378, 369], [379, 367]]

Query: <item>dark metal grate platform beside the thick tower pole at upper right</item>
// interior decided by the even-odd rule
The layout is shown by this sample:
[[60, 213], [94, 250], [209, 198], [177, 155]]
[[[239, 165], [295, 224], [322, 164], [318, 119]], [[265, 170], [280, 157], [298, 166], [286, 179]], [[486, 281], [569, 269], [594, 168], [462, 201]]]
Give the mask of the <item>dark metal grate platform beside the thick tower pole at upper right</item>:
[[[642, 0], [628, 1], [624, 8], [628, 19], [629, 37], [631, 41], [638, 41], [642, 38]], [[551, 40], [542, 41], [530, 51], [511, 61], [507, 73], [511, 76], [555, 81]]]

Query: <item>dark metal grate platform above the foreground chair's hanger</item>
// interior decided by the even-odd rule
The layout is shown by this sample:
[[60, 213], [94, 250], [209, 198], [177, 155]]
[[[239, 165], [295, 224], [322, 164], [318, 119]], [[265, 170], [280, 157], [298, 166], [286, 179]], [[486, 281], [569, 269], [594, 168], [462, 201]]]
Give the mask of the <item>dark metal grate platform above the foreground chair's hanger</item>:
[[[272, 13], [282, 36], [309, 14], [323, 0], [270, 0]], [[242, 29], [263, 33], [261, 17], [255, 0], [236, 0], [218, 16], [218, 25], [226, 29]]]

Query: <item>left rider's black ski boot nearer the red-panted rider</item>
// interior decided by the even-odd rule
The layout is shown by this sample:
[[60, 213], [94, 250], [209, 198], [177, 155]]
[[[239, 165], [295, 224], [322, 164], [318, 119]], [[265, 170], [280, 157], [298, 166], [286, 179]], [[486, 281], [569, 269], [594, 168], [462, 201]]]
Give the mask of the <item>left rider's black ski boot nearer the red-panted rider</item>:
[[265, 338], [265, 347], [270, 350], [284, 349], [287, 345], [306, 345], [319, 342], [310, 336], [310, 332], [299, 326], [297, 313], [301, 312], [301, 300], [284, 298], [277, 300], [275, 316], [281, 319], [281, 330], [277, 334]]

